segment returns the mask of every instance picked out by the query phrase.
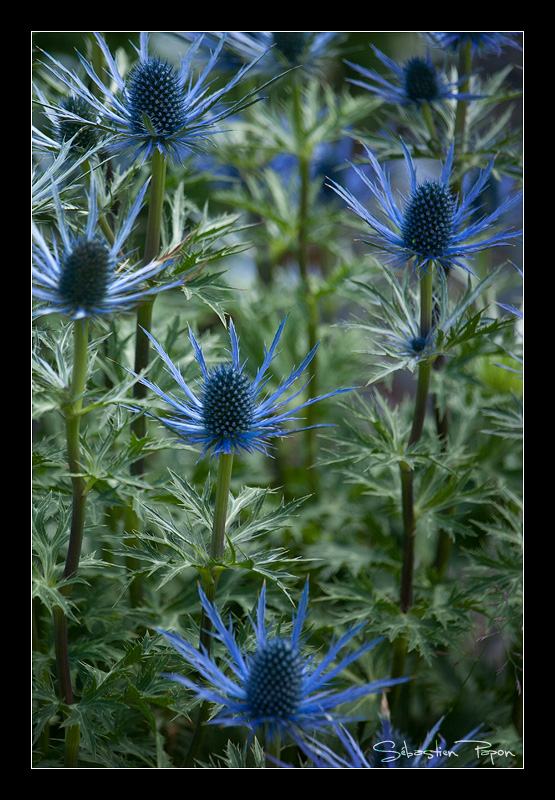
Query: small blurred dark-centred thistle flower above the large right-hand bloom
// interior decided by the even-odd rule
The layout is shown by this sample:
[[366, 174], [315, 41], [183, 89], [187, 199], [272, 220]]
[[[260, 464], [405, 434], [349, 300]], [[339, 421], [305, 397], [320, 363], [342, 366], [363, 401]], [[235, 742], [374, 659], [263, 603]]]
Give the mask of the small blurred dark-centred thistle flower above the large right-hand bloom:
[[371, 47], [382, 64], [391, 70], [397, 79], [397, 83], [392, 83], [375, 70], [361, 67], [351, 61], [345, 61], [348, 66], [367, 80], [373, 81], [373, 83], [352, 78], [349, 78], [348, 81], [355, 86], [360, 86], [369, 92], [373, 92], [387, 103], [419, 106], [421, 103], [432, 105], [445, 100], [472, 100], [477, 97], [476, 95], [459, 92], [457, 87], [462, 79], [448, 81], [445, 73], [434, 66], [429, 52], [425, 58], [415, 56], [408, 59], [404, 64], [397, 64], [374, 45], [371, 45]]

